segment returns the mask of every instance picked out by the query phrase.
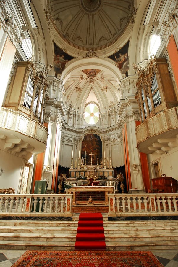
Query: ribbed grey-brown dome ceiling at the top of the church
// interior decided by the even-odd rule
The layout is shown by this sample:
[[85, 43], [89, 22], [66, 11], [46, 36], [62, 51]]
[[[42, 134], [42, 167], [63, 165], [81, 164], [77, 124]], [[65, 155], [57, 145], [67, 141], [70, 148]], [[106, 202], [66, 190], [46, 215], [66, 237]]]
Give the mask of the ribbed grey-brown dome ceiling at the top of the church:
[[49, 0], [51, 21], [59, 36], [80, 50], [101, 50], [127, 29], [133, 0]]

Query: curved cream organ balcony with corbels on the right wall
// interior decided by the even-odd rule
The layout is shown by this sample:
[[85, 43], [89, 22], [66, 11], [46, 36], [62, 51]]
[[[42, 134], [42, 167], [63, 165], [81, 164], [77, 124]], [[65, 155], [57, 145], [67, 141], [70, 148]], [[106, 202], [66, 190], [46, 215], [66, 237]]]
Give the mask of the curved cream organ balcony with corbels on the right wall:
[[136, 128], [137, 148], [143, 153], [163, 154], [178, 146], [178, 107], [146, 119]]

